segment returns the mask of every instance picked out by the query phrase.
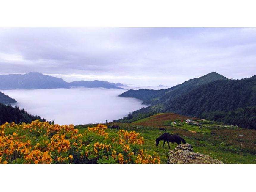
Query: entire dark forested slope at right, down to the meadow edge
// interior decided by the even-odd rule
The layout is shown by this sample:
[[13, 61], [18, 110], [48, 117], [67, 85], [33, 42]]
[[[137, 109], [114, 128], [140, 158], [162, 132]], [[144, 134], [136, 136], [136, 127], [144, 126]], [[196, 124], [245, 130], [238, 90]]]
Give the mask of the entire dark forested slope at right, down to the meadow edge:
[[256, 75], [241, 80], [215, 81], [162, 105], [162, 111], [256, 128]]

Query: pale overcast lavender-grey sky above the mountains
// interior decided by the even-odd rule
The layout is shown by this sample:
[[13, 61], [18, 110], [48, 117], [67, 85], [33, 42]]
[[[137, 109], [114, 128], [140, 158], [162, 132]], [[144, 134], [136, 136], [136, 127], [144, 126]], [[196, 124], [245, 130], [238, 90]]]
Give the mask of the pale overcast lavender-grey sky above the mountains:
[[256, 75], [256, 28], [0, 28], [0, 73], [174, 86]]

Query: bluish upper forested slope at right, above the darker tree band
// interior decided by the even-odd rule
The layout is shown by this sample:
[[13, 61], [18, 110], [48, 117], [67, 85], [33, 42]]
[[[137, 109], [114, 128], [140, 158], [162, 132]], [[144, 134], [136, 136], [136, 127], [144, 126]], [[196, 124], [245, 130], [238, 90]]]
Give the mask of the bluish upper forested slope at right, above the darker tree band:
[[231, 111], [256, 105], [256, 75], [241, 80], [215, 81], [163, 102], [165, 111], [199, 116], [205, 111]]

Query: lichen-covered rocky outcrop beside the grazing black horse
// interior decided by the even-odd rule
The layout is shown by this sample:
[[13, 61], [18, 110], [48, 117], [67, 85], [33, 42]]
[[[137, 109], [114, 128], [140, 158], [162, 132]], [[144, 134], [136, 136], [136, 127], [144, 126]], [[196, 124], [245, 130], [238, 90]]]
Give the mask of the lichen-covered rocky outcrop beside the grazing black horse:
[[191, 144], [180, 144], [174, 150], [169, 151], [166, 164], [223, 164], [218, 159], [213, 159], [209, 155], [194, 153]]

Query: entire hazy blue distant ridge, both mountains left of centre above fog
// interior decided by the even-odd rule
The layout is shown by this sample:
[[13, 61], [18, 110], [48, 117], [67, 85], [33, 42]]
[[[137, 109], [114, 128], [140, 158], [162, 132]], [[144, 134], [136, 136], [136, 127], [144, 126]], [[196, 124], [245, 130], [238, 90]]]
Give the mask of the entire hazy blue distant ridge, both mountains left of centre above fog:
[[71, 86], [82, 86], [86, 88], [103, 87], [107, 89], [123, 89], [118, 86], [124, 86], [121, 83], [110, 83], [107, 81], [73, 81], [66, 82], [62, 78], [52, 77], [50, 75], [43, 75], [38, 72], [30, 72], [24, 75], [9, 74], [0, 75], [0, 89], [54, 89], [65, 88], [69, 89]]

